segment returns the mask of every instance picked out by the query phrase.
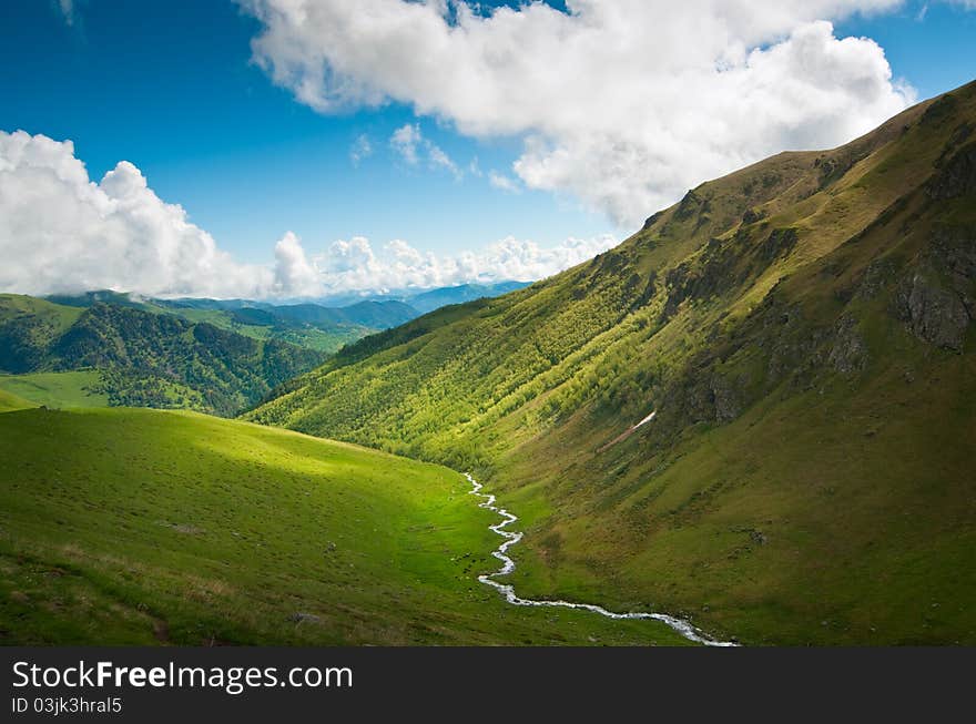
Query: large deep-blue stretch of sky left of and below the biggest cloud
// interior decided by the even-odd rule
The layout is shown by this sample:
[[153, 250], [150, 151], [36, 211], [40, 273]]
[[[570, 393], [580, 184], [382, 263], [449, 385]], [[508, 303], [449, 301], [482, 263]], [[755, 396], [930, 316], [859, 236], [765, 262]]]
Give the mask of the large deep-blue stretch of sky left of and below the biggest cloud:
[[[0, 129], [71, 139], [92, 179], [135, 163], [164, 200], [242, 259], [266, 261], [286, 230], [333, 241], [406, 238], [447, 251], [510, 234], [539, 243], [612, 230], [546, 192], [504, 193], [487, 176], [411, 169], [386, 143], [410, 109], [322, 115], [250, 62], [258, 23], [231, 2], [90, 0], [64, 22], [55, 2], [12, 0], [0, 24]], [[471, 142], [424, 119], [440, 147], [507, 171], [512, 140]], [[375, 154], [350, 162], [367, 134]]]

